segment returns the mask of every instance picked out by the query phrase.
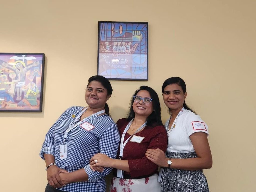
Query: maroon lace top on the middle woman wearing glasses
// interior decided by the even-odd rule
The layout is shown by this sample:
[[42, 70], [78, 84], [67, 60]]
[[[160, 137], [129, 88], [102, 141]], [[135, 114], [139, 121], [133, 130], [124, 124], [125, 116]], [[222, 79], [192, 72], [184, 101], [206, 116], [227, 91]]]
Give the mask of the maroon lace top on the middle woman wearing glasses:
[[[119, 133], [122, 137], [126, 126], [130, 121], [120, 119], [116, 123]], [[125, 175], [130, 175], [131, 178], [153, 175], [158, 171], [158, 165], [152, 163], [145, 156], [147, 149], [161, 149], [166, 152], [167, 148], [167, 133], [164, 126], [148, 127], [146, 126], [141, 132], [134, 134], [136, 136], [145, 137], [141, 143], [128, 142], [123, 151], [123, 160], [128, 160], [131, 173], [124, 172]], [[124, 141], [131, 135], [126, 133]], [[131, 139], [130, 139], [131, 140]], [[121, 141], [120, 141], [121, 142]], [[120, 146], [117, 159], [119, 159]], [[117, 169], [114, 169], [116, 175]]]

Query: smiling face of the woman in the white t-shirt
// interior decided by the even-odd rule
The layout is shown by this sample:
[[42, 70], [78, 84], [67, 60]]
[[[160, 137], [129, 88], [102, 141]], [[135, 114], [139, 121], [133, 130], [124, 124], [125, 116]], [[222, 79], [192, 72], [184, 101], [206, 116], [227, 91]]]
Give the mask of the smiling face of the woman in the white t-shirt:
[[184, 93], [178, 84], [170, 84], [165, 87], [164, 103], [171, 111], [182, 110], [187, 93]]

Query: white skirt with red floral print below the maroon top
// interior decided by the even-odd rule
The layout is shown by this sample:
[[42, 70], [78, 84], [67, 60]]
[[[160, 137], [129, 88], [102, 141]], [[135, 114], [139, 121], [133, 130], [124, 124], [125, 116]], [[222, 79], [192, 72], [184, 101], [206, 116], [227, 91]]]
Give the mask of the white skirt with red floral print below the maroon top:
[[112, 178], [109, 192], [161, 192], [158, 174], [143, 179]]

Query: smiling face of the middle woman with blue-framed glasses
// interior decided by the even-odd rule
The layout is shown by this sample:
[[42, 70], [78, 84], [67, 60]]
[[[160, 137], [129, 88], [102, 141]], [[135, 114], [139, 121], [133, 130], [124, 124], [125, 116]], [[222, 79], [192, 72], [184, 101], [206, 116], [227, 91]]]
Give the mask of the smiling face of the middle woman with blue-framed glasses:
[[[150, 93], [146, 90], [141, 90], [137, 93], [137, 96], [140, 96], [141, 98], [151, 98]], [[135, 112], [135, 116], [145, 116], [148, 117], [153, 113], [153, 102], [152, 101], [150, 104], [145, 104], [143, 102], [143, 99], [140, 102], [133, 102], [132, 108], [133, 111]]]

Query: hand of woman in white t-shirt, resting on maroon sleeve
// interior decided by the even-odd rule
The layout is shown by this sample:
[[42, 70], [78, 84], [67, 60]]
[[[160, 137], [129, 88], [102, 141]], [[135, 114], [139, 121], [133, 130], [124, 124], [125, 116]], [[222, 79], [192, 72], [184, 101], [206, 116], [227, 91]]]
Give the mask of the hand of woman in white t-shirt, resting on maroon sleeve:
[[161, 149], [148, 149], [146, 151], [146, 157], [158, 166], [168, 167], [168, 159]]

